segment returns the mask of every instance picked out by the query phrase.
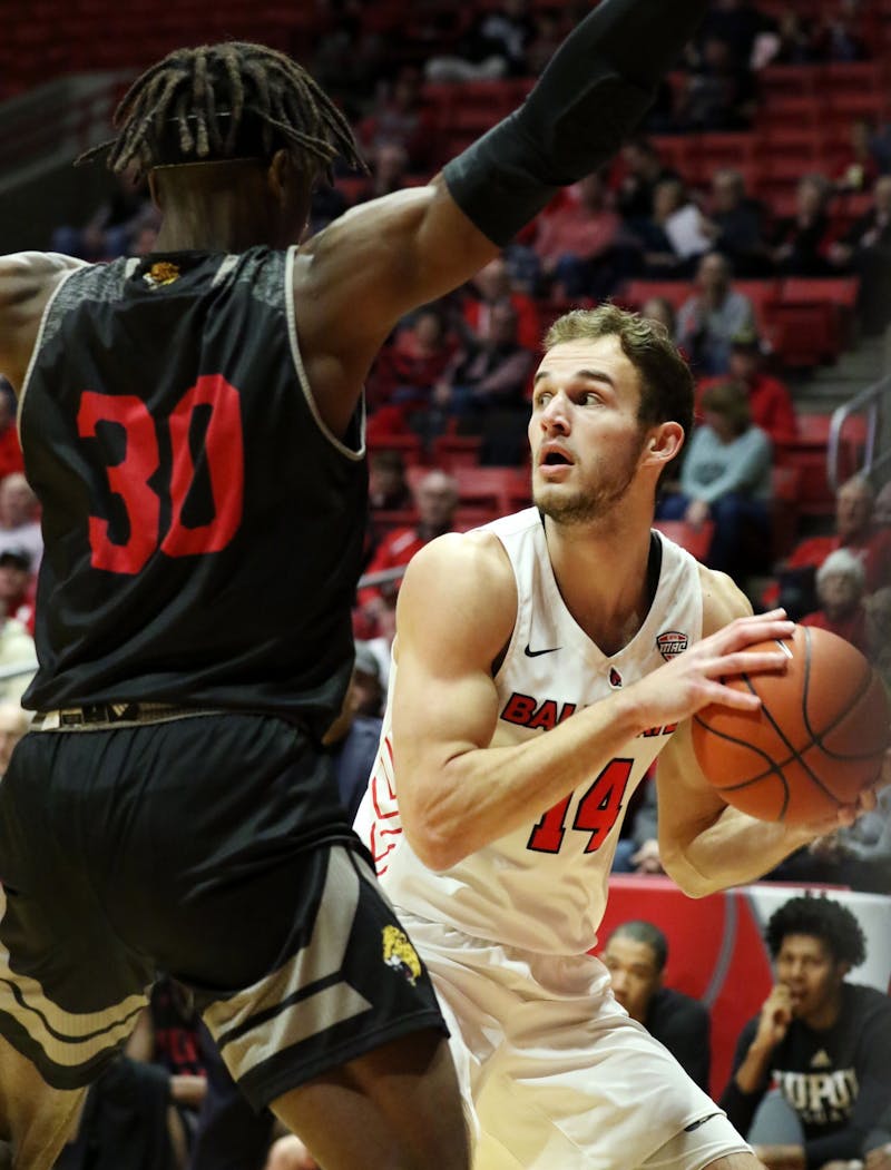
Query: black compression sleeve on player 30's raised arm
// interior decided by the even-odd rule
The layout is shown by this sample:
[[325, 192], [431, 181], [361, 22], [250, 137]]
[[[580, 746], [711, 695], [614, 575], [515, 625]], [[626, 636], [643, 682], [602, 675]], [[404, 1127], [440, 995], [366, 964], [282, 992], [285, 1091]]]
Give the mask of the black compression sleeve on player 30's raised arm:
[[446, 185], [465, 215], [505, 245], [558, 187], [611, 158], [707, 7], [707, 0], [601, 0], [520, 109], [446, 164]]

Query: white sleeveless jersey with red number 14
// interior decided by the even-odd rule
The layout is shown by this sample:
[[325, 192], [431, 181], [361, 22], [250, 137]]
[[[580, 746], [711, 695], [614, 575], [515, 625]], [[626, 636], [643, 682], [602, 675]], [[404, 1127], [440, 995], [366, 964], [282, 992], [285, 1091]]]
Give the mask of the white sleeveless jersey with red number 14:
[[[502, 517], [484, 530], [503, 544], [518, 591], [514, 631], [494, 679], [500, 716], [492, 746], [543, 735], [701, 636], [698, 563], [659, 534], [653, 539], [660, 544], [662, 565], [650, 612], [628, 646], [610, 656], [563, 604], [537, 510]], [[393, 675], [391, 694], [395, 681]], [[527, 951], [580, 955], [597, 941], [628, 801], [673, 730], [652, 728], [637, 736], [537, 821], [434, 873], [402, 831], [388, 704], [355, 827], [397, 910]]]

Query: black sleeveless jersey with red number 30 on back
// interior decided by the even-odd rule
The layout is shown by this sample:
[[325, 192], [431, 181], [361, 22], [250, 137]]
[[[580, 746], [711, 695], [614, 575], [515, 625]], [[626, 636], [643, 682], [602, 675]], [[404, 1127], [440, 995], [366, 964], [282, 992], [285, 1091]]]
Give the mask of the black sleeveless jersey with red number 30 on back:
[[306, 380], [293, 249], [73, 271], [21, 404], [46, 551], [25, 703], [340, 709], [368, 494]]

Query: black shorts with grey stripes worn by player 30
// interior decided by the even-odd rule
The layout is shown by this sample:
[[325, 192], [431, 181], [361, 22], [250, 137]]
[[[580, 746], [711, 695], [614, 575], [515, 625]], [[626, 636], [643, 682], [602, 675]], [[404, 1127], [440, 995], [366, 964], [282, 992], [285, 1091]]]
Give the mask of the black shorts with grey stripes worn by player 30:
[[0, 1032], [57, 1088], [128, 1038], [159, 971], [254, 1107], [445, 1031], [329, 760], [268, 716], [33, 731], [0, 783]]

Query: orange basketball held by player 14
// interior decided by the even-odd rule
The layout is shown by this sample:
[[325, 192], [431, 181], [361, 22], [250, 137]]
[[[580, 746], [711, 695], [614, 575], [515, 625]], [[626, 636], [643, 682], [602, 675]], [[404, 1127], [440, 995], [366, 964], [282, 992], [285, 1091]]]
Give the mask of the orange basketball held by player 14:
[[761, 698], [754, 711], [712, 704], [693, 716], [699, 766], [727, 804], [759, 820], [797, 825], [850, 804], [879, 773], [891, 704], [858, 649], [836, 634], [796, 626], [780, 646], [784, 673], [740, 675], [731, 687]]

